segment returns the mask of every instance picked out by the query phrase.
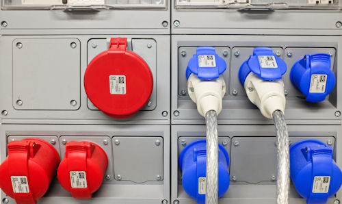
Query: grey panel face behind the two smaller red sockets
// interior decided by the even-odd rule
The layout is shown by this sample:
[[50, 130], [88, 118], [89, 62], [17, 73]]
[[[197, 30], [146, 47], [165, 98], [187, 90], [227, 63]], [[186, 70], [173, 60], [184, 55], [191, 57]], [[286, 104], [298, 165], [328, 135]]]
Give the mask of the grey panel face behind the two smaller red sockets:
[[[37, 137], [42, 140], [51, 142], [52, 138], [57, 138], [55, 148], [60, 146], [60, 153], [63, 157], [64, 140], [80, 141], [87, 140], [100, 145], [107, 153], [116, 154], [114, 157], [109, 155], [109, 165], [107, 173], [112, 173], [116, 169], [118, 163], [129, 160], [134, 162], [139, 158], [140, 168], [148, 169], [151, 166], [157, 167], [161, 178], [154, 176], [144, 183], [127, 181], [113, 177], [105, 177], [101, 188], [92, 195], [92, 199], [82, 201], [86, 203], [127, 203], [127, 204], [160, 204], [164, 199], [170, 202], [170, 126], [168, 125], [0, 125], [1, 136], [1, 162], [5, 160], [7, 155], [6, 144], [8, 140], [19, 140], [23, 138]], [[109, 138], [107, 142], [104, 142]], [[131, 155], [124, 152], [117, 152], [118, 149], [111, 148], [116, 145], [114, 138], [120, 138], [120, 145], [127, 145], [124, 151], [131, 151]], [[114, 143], [111, 143], [111, 139]], [[159, 140], [159, 145], [157, 140]], [[136, 144], [136, 145], [135, 145]], [[56, 146], [57, 145], [57, 146]], [[135, 149], [138, 148], [138, 149]], [[155, 148], [155, 149], [151, 149]], [[142, 155], [150, 155], [150, 157], [135, 157], [135, 153]], [[150, 162], [155, 162], [151, 164]], [[118, 164], [119, 165], [119, 164]], [[132, 164], [133, 165], [133, 164]], [[124, 166], [120, 166], [123, 168]], [[126, 166], [129, 168], [129, 166]], [[131, 166], [133, 170], [133, 166]], [[146, 171], [135, 168], [135, 178], [146, 179]], [[155, 169], [155, 170], [157, 170]], [[128, 173], [128, 172], [124, 172]], [[153, 171], [151, 171], [153, 173]], [[1, 199], [9, 199], [9, 203], [14, 204], [14, 199], [6, 196], [1, 192]], [[64, 190], [57, 179], [51, 184], [47, 194], [39, 200], [39, 203], [77, 203], [77, 199], [73, 199], [71, 194]]]

